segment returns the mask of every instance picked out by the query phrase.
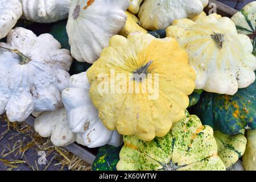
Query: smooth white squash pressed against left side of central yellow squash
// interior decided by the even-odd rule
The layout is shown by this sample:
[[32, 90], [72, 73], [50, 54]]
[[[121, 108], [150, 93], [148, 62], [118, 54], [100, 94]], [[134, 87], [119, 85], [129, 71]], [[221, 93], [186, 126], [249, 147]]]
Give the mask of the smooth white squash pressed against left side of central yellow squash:
[[90, 148], [110, 144], [120, 146], [122, 137], [117, 131], [106, 129], [98, 118], [98, 110], [89, 96], [90, 83], [86, 72], [71, 77], [71, 87], [63, 90], [62, 98], [68, 113], [68, 125], [77, 133], [85, 146]]

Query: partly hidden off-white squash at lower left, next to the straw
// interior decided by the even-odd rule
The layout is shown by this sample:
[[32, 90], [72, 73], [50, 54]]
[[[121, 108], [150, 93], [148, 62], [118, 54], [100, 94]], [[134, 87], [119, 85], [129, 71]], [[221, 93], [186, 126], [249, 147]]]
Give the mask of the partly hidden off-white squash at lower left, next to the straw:
[[67, 146], [76, 141], [76, 134], [68, 127], [64, 107], [40, 113], [35, 119], [34, 129], [41, 137], [51, 137], [55, 146]]

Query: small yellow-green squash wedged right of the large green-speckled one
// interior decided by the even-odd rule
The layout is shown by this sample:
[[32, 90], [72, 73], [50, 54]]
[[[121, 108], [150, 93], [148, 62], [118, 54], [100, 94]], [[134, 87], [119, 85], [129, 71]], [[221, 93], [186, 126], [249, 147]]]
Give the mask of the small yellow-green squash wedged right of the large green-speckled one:
[[232, 167], [245, 152], [245, 135], [225, 135], [220, 131], [214, 131], [214, 138], [218, 146], [218, 156], [226, 168]]

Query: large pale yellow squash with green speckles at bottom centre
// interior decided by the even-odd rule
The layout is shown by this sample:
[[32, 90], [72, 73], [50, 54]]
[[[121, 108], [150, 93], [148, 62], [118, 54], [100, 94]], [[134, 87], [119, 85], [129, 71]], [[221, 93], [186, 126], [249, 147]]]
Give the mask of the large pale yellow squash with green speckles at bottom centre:
[[196, 115], [174, 123], [164, 137], [144, 142], [124, 136], [117, 169], [121, 170], [225, 170], [217, 155], [213, 130], [201, 124]]

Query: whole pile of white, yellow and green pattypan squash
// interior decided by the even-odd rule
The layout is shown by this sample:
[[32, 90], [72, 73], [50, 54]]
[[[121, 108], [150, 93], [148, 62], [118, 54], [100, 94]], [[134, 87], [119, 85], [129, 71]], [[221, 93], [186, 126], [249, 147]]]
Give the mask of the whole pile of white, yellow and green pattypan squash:
[[1, 0], [0, 114], [100, 147], [93, 170], [256, 170], [256, 2], [207, 5]]

